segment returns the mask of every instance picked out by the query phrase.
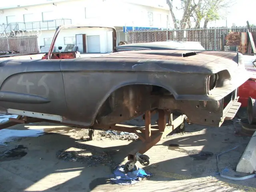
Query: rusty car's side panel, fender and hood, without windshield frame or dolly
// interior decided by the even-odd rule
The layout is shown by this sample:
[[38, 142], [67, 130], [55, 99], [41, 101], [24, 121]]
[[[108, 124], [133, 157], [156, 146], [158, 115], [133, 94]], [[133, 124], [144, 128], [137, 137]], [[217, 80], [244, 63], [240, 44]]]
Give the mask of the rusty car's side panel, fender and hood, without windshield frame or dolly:
[[[126, 51], [68, 60], [1, 60], [0, 113], [92, 126], [95, 122], [123, 122], [161, 105], [182, 110], [194, 123], [218, 125], [223, 115], [222, 98], [243, 84], [248, 74], [236, 52], [186, 53], [194, 50]], [[209, 77], [215, 74], [218, 78], [209, 89]], [[152, 98], [153, 90], [159, 88], [173, 97], [172, 104]]]

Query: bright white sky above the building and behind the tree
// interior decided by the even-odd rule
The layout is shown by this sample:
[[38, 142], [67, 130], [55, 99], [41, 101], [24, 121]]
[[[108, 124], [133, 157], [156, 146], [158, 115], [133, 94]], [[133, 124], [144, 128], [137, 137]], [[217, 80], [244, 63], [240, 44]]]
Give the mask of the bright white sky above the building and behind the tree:
[[[46, 0], [36, 0], [37, 2], [42, 2]], [[118, 0], [120, 1], [120, 0]], [[144, 1], [144, 0], [137, 0]], [[148, 0], [154, 1], [154, 0]], [[159, 2], [159, 4], [166, 4], [166, 0], [155, 0]], [[256, 0], [235, 0], [236, 4], [228, 8], [227, 17], [227, 24], [228, 26], [232, 26], [232, 23], [235, 23], [236, 26], [246, 26], [246, 21], [248, 20], [250, 24], [256, 24]], [[11, 5], [18, 5], [18, 4], [26, 4], [27, 2], [35, 2], [35, 0], [2, 0], [1, 7], [11, 6]], [[173, 0], [176, 5], [179, 5], [180, 0]], [[179, 12], [176, 12], [176, 17], [180, 16]], [[181, 16], [180, 16], [181, 17]], [[216, 22], [211, 22], [210, 26], [226, 26], [226, 19], [219, 20]]]

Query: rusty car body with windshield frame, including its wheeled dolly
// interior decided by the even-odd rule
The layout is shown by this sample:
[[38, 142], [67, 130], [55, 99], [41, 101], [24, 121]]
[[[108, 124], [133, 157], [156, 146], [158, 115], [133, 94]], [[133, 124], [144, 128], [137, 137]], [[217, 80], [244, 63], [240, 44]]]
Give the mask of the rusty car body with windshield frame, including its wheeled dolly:
[[[187, 118], [221, 126], [240, 108], [238, 87], [250, 78], [242, 54], [155, 45], [118, 51], [116, 30], [100, 26], [113, 31], [111, 53], [68, 59], [54, 55], [60, 30], [81, 27], [98, 26], [60, 26], [48, 54], [0, 58], [0, 113], [18, 115], [0, 129], [48, 121], [89, 128], [90, 139], [94, 128], [133, 132], [142, 143], [128, 154], [124, 171], [129, 172], [136, 161], [147, 166], [144, 153], [175, 129], [184, 130]], [[181, 112], [176, 119], [174, 110]], [[153, 112], [158, 112], [156, 126], [151, 126]], [[141, 115], [144, 127], [118, 125]]]

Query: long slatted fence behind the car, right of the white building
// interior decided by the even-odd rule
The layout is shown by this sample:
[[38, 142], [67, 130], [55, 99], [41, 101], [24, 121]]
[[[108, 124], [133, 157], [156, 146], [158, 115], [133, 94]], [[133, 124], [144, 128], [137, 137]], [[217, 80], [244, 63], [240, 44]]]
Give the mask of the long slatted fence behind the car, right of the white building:
[[[255, 31], [256, 26], [251, 27], [251, 32]], [[247, 32], [247, 27], [131, 31], [126, 33], [126, 41], [128, 43], [146, 43], [168, 40], [196, 41], [201, 42], [206, 50], [223, 50], [225, 36], [230, 32]]]

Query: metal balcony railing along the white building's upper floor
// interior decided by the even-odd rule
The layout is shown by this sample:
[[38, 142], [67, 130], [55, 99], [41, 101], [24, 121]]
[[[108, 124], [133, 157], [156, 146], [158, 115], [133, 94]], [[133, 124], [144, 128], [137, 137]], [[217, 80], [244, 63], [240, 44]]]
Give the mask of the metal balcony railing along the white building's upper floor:
[[36, 31], [36, 30], [53, 30], [58, 26], [72, 24], [71, 19], [56, 19], [48, 21], [36, 21], [36, 22], [16, 22], [0, 25], [0, 31]]

